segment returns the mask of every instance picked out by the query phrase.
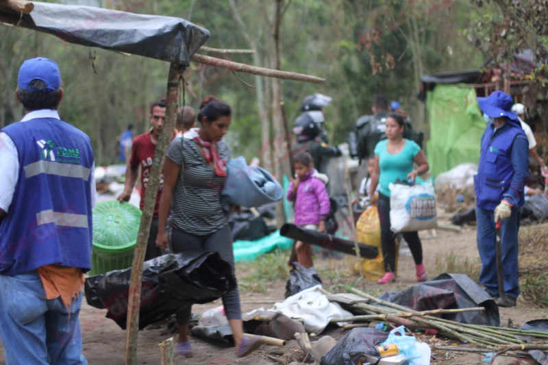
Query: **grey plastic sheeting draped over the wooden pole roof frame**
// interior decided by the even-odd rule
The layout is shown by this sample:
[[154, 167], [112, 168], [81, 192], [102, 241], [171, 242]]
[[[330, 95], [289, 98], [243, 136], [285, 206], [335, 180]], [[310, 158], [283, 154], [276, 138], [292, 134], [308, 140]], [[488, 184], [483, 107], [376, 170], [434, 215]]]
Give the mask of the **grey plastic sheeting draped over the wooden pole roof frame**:
[[190, 56], [210, 38], [208, 29], [173, 16], [134, 14], [84, 5], [32, 3], [34, 10], [23, 18], [32, 21], [39, 30], [66, 42], [182, 66], [188, 66]]

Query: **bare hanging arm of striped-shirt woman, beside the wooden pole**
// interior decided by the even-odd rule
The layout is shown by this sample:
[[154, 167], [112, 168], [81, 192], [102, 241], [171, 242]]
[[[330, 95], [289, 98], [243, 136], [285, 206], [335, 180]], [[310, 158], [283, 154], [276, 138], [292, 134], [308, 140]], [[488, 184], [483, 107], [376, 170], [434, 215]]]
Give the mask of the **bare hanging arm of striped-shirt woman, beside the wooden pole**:
[[164, 188], [162, 188], [160, 206], [158, 207], [158, 236], [156, 236], [156, 246], [161, 250], [167, 247], [166, 223], [169, 216], [169, 207], [171, 206], [171, 197], [179, 173], [181, 173], [181, 166], [175, 164], [171, 158], [166, 157], [164, 162]]

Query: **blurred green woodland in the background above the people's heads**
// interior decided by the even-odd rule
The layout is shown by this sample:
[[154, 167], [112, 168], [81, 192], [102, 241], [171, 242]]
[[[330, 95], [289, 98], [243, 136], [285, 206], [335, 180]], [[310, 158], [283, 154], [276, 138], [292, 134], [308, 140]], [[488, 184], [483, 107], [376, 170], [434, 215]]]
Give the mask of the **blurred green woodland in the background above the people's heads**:
[[[410, 112], [414, 127], [424, 129], [424, 105], [416, 99], [423, 74], [476, 68], [483, 61], [483, 55], [459, 32], [471, 25], [471, 12], [479, 14], [477, 5], [465, 0], [284, 0], [282, 4], [282, 70], [327, 79], [321, 86], [282, 81], [289, 124], [297, 118], [306, 95], [329, 95], [334, 102], [325, 108], [325, 117], [335, 144], [344, 142], [360, 115], [370, 113], [377, 94], [398, 99]], [[102, 5], [186, 18], [210, 30], [210, 47], [247, 49], [254, 45], [257, 51], [256, 56], [214, 56], [275, 66], [274, 1], [105, 0]], [[97, 164], [116, 162], [116, 137], [129, 123], [136, 125], [138, 133], [146, 131], [148, 105], [166, 93], [169, 65], [164, 62], [71, 45], [28, 29], [0, 27], [0, 32], [0, 85], [4, 90], [0, 126], [18, 120], [23, 112], [13, 96], [18, 66], [37, 55], [51, 58], [63, 76], [65, 97], [60, 114], [90, 135]], [[228, 140], [233, 154], [246, 155], [248, 160], [262, 156], [262, 122], [270, 118], [274, 107], [268, 102], [271, 80], [258, 83], [252, 75], [233, 75], [202, 64], [191, 64], [184, 77], [186, 105], [197, 108], [206, 95], [217, 95], [232, 106]], [[274, 135], [273, 131], [269, 134]]]

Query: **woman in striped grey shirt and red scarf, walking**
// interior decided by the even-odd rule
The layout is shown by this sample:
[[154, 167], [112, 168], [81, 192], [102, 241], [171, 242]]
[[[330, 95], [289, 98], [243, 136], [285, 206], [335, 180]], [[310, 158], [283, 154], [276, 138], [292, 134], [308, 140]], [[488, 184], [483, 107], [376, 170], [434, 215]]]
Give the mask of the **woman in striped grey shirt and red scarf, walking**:
[[[171, 142], [164, 163], [164, 190], [160, 200], [156, 245], [160, 249], [167, 247], [165, 227], [171, 213], [169, 225], [174, 253], [216, 251], [232, 266], [234, 273], [232, 231], [220, 197], [230, 158], [227, 144], [222, 139], [228, 131], [231, 115], [232, 111], [225, 101], [207, 97], [201, 103], [197, 117], [200, 127]], [[238, 287], [224, 294], [222, 299], [236, 354], [247, 355], [260, 343], [243, 337]], [[187, 305], [176, 314], [179, 338], [175, 352], [186, 357], [192, 357], [188, 341], [191, 307]]]

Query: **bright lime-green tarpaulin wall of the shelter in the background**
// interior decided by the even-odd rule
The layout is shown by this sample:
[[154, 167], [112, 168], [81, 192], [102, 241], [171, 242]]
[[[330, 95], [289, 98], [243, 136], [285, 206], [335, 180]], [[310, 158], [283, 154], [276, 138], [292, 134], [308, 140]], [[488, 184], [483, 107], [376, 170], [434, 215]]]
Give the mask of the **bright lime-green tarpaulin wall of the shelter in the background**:
[[479, 143], [486, 127], [475, 90], [465, 85], [438, 84], [427, 92], [430, 139], [426, 143], [432, 175], [458, 164], [479, 160]]

